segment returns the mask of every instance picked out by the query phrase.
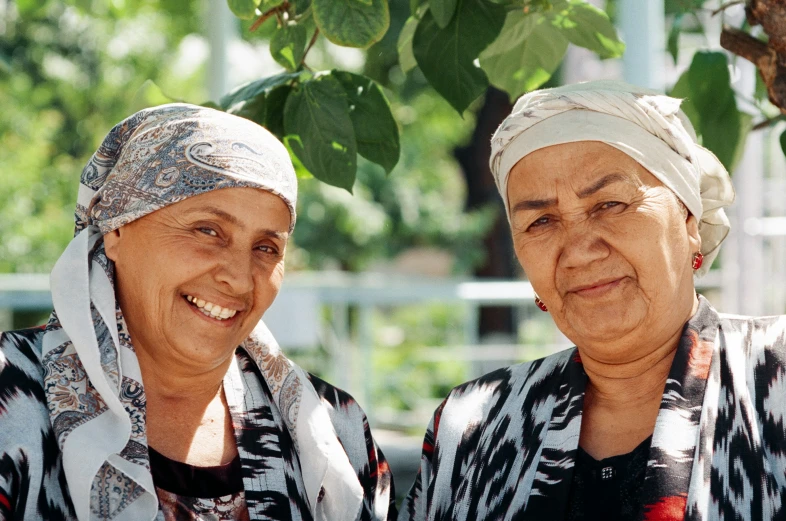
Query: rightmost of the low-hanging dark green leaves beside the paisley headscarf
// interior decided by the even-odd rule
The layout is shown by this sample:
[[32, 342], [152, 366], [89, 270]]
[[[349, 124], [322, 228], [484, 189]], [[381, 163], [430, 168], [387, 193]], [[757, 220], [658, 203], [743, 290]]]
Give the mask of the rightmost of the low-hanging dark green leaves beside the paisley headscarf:
[[385, 94], [371, 78], [337, 70], [331, 74], [347, 94], [358, 153], [389, 174], [398, 163], [401, 145]]

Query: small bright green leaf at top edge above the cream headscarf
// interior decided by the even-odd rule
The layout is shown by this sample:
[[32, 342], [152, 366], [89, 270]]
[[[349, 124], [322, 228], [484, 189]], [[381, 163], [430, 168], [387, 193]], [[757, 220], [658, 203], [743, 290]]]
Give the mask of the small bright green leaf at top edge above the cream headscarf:
[[618, 58], [625, 52], [625, 44], [608, 15], [585, 0], [555, 2], [554, 9], [545, 14], [572, 44], [589, 49], [601, 58]]

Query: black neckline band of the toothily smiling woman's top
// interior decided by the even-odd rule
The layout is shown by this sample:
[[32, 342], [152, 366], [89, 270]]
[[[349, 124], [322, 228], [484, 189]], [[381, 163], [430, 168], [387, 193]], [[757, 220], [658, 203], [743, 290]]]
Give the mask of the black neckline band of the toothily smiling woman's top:
[[150, 470], [156, 487], [194, 498], [217, 498], [243, 490], [240, 455], [225, 465], [195, 467], [167, 458], [148, 447]]

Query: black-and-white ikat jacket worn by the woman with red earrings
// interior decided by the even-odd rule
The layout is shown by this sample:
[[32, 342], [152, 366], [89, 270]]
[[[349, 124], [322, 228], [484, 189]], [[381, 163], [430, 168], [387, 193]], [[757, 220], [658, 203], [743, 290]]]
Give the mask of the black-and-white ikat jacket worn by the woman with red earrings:
[[[638, 519], [786, 520], [786, 317], [699, 301], [663, 393]], [[399, 521], [564, 519], [586, 383], [574, 348], [455, 388]]]

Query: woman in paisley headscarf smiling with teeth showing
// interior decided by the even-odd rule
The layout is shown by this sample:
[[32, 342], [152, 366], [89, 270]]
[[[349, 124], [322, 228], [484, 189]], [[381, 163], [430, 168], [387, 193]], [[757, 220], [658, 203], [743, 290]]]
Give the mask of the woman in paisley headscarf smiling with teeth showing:
[[363, 411], [260, 321], [296, 195], [285, 148], [236, 116], [112, 129], [49, 323], [0, 337], [0, 519], [395, 517]]

